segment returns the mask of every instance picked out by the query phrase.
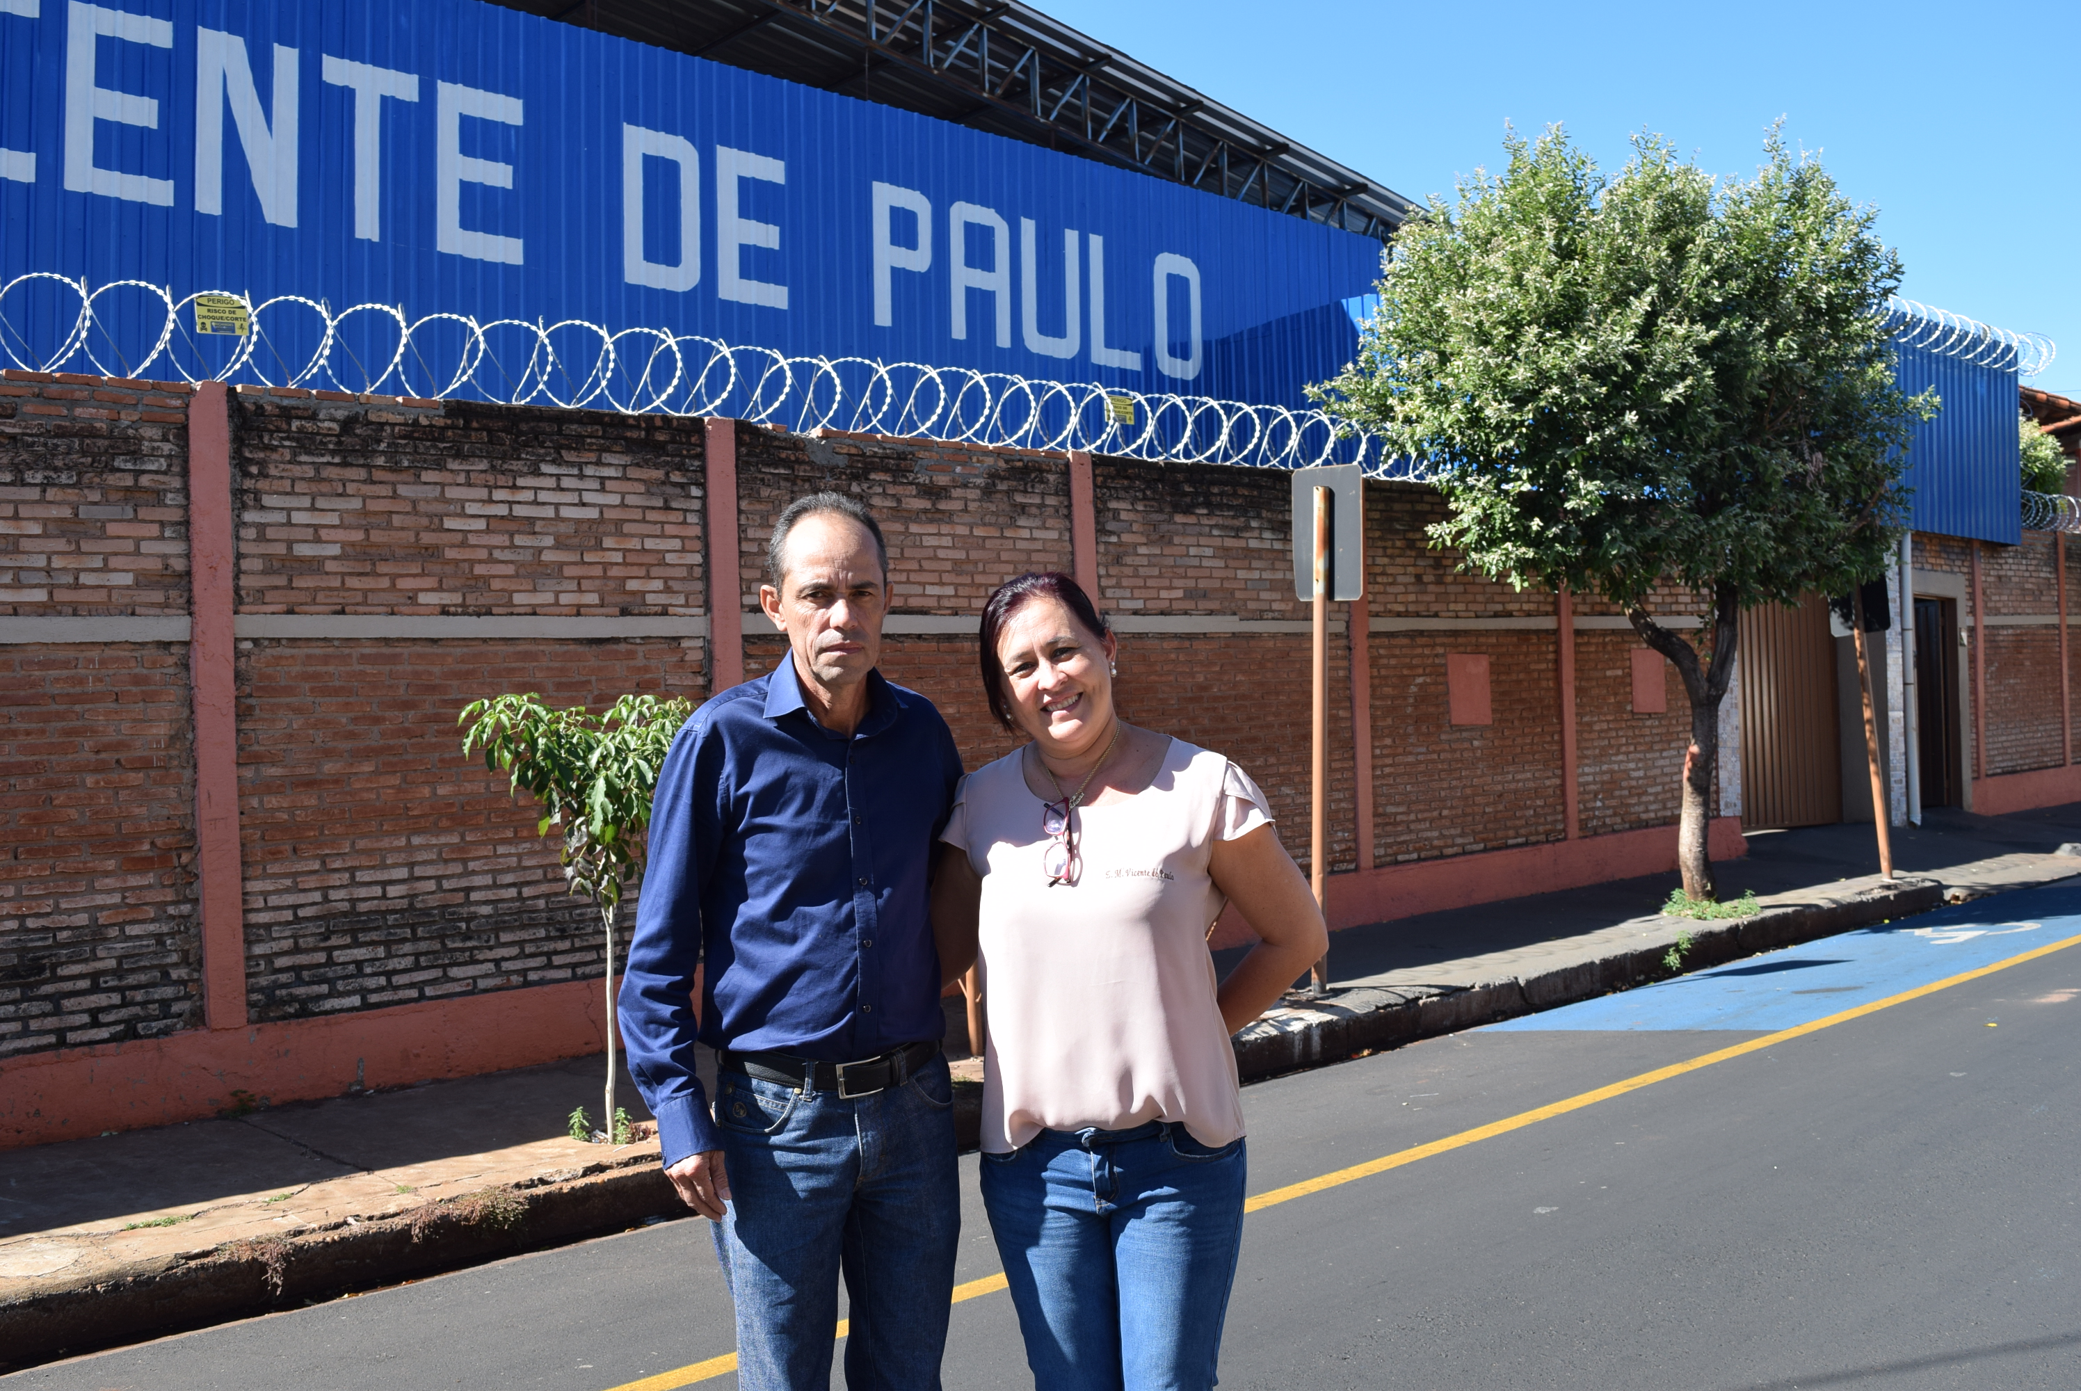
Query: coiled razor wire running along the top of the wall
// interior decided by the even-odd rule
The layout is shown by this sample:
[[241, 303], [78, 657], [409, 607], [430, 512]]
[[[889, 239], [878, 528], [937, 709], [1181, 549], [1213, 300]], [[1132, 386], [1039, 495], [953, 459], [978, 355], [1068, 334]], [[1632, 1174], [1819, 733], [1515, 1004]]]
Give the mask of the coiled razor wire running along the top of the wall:
[[[17, 325], [17, 304], [52, 289], [77, 306], [52, 306], [40, 327]], [[223, 335], [191, 329], [196, 302], [206, 296], [243, 308], [248, 331], [229, 346]], [[129, 310], [127, 319], [121, 310]], [[158, 319], [156, 331], [135, 331], [139, 310], [146, 325]], [[123, 331], [129, 350], [119, 342]], [[2027, 377], [2044, 371], [2056, 352], [2044, 335], [2008, 333], [1898, 298], [1890, 302], [1890, 331], [1896, 342], [1975, 364], [2014, 360]], [[31, 333], [54, 346], [37, 352]], [[235, 292], [175, 298], [150, 281], [96, 287], [52, 271], [31, 271], [0, 285], [0, 354], [35, 373], [127, 379], [156, 373], [191, 385], [229, 381], [624, 414], [728, 414], [797, 433], [824, 429], [1253, 469], [1357, 462], [1369, 477], [1430, 477], [1421, 462], [1390, 456], [1378, 435], [1315, 408], [968, 366], [787, 356], [670, 329], [610, 331], [583, 319], [479, 321], [454, 312], [412, 319], [391, 304], [335, 312], [325, 300], [293, 294], [258, 302]]]

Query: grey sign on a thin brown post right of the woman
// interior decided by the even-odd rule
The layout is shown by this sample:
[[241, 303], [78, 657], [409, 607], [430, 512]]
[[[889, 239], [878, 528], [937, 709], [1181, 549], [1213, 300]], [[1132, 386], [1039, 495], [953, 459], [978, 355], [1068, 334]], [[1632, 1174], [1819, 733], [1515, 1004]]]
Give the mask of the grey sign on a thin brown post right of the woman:
[[[1330, 918], [1330, 602], [1365, 596], [1365, 475], [1357, 464], [1294, 469], [1294, 589], [1311, 604], [1309, 887]], [[1365, 737], [1363, 733], [1359, 737]], [[1359, 789], [1367, 795], [1367, 789]], [[1315, 997], [1330, 993], [1330, 954], [1309, 970]]]

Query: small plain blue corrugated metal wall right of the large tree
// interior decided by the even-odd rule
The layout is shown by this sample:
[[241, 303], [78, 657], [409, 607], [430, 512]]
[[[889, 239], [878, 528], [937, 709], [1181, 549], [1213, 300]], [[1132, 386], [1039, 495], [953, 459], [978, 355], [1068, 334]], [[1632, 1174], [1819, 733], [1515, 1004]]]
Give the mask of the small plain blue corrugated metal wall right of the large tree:
[[1896, 348], [1894, 358], [1902, 391], [1935, 387], [1944, 398], [1908, 446], [1915, 529], [2019, 543], [2016, 356], [1975, 366], [1927, 348]]

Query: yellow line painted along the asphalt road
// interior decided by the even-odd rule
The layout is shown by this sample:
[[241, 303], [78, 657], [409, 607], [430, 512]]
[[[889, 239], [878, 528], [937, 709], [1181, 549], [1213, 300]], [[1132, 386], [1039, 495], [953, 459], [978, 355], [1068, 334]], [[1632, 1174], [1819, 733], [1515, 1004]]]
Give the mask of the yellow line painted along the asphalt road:
[[[1840, 1014], [1829, 1014], [1827, 1018], [1817, 1018], [1808, 1025], [1796, 1025], [1792, 1029], [1779, 1029], [1777, 1033], [1767, 1033], [1761, 1039], [1750, 1039], [1746, 1043], [1736, 1043], [1733, 1047], [1721, 1047], [1711, 1054], [1700, 1054], [1688, 1062], [1673, 1062], [1667, 1068], [1654, 1068], [1652, 1072], [1642, 1072], [1640, 1077], [1627, 1077], [1623, 1083], [1611, 1083], [1609, 1087], [1598, 1087], [1596, 1091], [1584, 1091], [1571, 1095], [1565, 1102], [1555, 1102], [1550, 1106], [1538, 1106], [1534, 1110], [1517, 1112], [1502, 1120], [1492, 1120], [1490, 1124], [1475, 1127], [1471, 1131], [1461, 1131], [1459, 1135], [1446, 1135], [1444, 1139], [1434, 1139], [1428, 1145], [1411, 1145], [1409, 1149], [1396, 1149], [1394, 1154], [1384, 1154], [1378, 1160], [1367, 1160], [1365, 1164], [1353, 1164], [1351, 1168], [1338, 1168], [1315, 1179], [1303, 1179], [1301, 1183], [1288, 1183], [1284, 1189], [1271, 1189], [1269, 1193], [1259, 1193], [1242, 1204], [1244, 1212], [1263, 1212], [1265, 1208], [1276, 1208], [1280, 1204], [1290, 1204], [1296, 1197], [1307, 1197], [1309, 1193], [1321, 1193], [1324, 1189], [1342, 1187], [1357, 1179], [1371, 1179], [1373, 1174], [1384, 1174], [1390, 1168], [1401, 1168], [1403, 1164], [1415, 1164], [1417, 1160], [1428, 1160], [1434, 1154], [1446, 1154], [1450, 1149], [1463, 1149], [1484, 1139], [1494, 1139], [1496, 1135], [1509, 1135], [1511, 1131], [1521, 1131], [1527, 1124], [1538, 1124], [1540, 1120], [1550, 1120], [1555, 1116], [1565, 1116], [1586, 1106], [1596, 1106], [1598, 1102], [1609, 1102], [1611, 1097], [1623, 1097], [1627, 1091], [1640, 1091], [1642, 1087], [1652, 1087], [1654, 1083], [1669, 1081], [1671, 1077], [1684, 1077], [1686, 1072], [1696, 1072], [1698, 1068], [1709, 1068], [1715, 1062], [1725, 1062], [1729, 1058], [1740, 1058], [1744, 1054], [1756, 1054], [1767, 1047], [1777, 1047], [1779, 1043], [1790, 1043], [1792, 1039], [1802, 1039], [1808, 1033], [1821, 1033], [1823, 1029], [1833, 1029], [1835, 1025], [1848, 1025], [1852, 1018], [1865, 1018], [1867, 1014], [1877, 1014], [1879, 1010], [1892, 1010], [1896, 1004], [1906, 1004], [1910, 1000], [1921, 1000], [1923, 995], [1935, 995], [1937, 991], [1950, 989], [1952, 985], [1964, 985], [1967, 981], [1979, 981], [1981, 977], [1992, 977], [1998, 970], [2008, 970], [2010, 966], [2021, 966], [2023, 962], [2035, 962], [2039, 956], [2052, 956], [2054, 952], [2064, 952], [2066, 947], [2081, 943], [2081, 935], [2066, 937], [2064, 941], [2054, 941], [2029, 952], [1994, 962], [1992, 966], [1977, 966], [1973, 970], [1960, 970], [1954, 977], [1944, 977], [1942, 981], [1931, 981], [1929, 985], [1917, 985], [1915, 989], [1904, 989], [1898, 995], [1887, 995], [1885, 1000], [1873, 1000], [1871, 1004], [1860, 1004]], [[1003, 1272], [984, 1276], [980, 1281], [968, 1281], [957, 1285], [953, 1291], [953, 1301], [974, 1299], [976, 1295], [991, 1295], [1005, 1289]], [[847, 1324], [839, 1324], [839, 1337], [845, 1337]], [[691, 1387], [699, 1381], [710, 1381], [722, 1376], [724, 1372], [737, 1370], [737, 1354], [726, 1354], [722, 1358], [710, 1358], [708, 1362], [695, 1362], [693, 1366], [683, 1366], [676, 1372], [660, 1372], [658, 1376], [645, 1376], [643, 1381], [631, 1381], [620, 1387], [610, 1387], [608, 1391], [678, 1391], [678, 1387]]]

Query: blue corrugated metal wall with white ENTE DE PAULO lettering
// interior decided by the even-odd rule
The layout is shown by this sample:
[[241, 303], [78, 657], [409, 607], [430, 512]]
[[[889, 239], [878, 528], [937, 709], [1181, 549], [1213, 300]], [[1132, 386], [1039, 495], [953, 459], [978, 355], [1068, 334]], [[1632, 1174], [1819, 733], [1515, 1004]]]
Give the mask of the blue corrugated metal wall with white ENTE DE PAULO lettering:
[[[1380, 244], [470, 0], [0, 0], [0, 275], [31, 271], [1303, 406]], [[37, 360], [79, 304], [0, 310]], [[96, 314], [110, 371], [164, 323], [135, 289]], [[397, 333], [341, 337], [381, 369]], [[531, 337], [495, 337], [520, 373]], [[427, 381], [449, 339], [414, 335]], [[175, 339], [196, 375], [235, 348]]]

